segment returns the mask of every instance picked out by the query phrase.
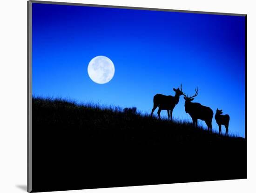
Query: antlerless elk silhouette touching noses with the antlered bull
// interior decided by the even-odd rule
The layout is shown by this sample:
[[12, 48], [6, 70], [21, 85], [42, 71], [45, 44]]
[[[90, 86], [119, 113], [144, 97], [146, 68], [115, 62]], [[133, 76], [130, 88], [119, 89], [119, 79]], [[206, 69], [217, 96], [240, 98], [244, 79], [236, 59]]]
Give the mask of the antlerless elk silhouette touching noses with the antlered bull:
[[183, 95], [183, 92], [179, 88], [177, 89], [173, 88], [173, 90], [175, 91], [175, 96], [170, 96], [170, 95], [167, 96], [162, 94], [156, 94], [154, 96], [154, 99], [153, 99], [154, 106], [151, 111], [151, 117], [155, 109], [158, 107], [157, 115], [159, 119], [161, 119], [160, 117], [161, 110], [167, 110], [168, 121], [170, 120], [170, 113], [171, 113], [171, 121], [172, 121], [172, 111], [175, 108], [175, 105], [179, 103], [180, 96]]

